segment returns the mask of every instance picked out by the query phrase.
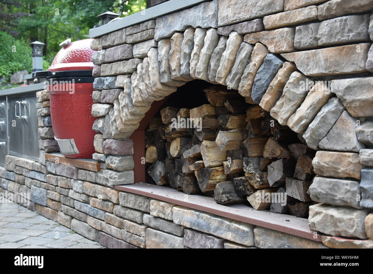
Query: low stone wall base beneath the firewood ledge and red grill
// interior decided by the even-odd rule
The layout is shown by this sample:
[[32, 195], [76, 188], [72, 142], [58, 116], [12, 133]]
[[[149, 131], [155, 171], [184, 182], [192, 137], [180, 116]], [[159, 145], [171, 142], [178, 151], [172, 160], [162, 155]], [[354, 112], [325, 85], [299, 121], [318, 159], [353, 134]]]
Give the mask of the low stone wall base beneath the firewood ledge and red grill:
[[[8, 156], [6, 169], [0, 167], [0, 193], [31, 193], [31, 201], [22, 205], [108, 248], [325, 248], [313, 240], [119, 191], [96, 183], [95, 172], [47, 161], [48, 174], [42, 174], [36, 166]], [[12, 167], [15, 172], [8, 171]]]

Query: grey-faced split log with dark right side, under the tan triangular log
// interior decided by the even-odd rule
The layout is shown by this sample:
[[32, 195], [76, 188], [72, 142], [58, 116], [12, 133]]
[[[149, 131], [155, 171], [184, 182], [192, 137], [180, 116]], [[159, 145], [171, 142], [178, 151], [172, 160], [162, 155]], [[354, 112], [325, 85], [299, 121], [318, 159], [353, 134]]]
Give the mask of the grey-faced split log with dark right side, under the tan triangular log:
[[268, 166], [268, 183], [271, 187], [284, 186], [286, 177], [294, 174], [294, 160], [282, 158]]

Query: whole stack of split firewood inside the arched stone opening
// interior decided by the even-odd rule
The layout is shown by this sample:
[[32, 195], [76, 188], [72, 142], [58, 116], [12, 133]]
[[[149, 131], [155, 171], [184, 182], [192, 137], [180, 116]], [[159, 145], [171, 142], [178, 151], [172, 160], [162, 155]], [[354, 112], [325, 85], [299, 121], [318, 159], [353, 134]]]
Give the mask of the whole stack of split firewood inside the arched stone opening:
[[145, 135], [149, 180], [219, 204], [250, 203], [255, 210], [307, 217], [315, 151], [237, 91], [213, 85], [204, 92], [209, 104], [166, 107], [151, 121]]

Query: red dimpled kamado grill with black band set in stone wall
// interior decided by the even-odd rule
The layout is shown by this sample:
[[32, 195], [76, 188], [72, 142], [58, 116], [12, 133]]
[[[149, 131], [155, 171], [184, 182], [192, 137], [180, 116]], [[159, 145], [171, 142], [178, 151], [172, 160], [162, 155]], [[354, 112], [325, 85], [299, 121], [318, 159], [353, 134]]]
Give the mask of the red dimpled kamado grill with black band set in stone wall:
[[54, 139], [60, 152], [70, 158], [92, 158], [95, 152], [91, 115], [94, 64], [92, 39], [62, 42], [47, 71], [35, 72], [49, 82], [50, 112]]

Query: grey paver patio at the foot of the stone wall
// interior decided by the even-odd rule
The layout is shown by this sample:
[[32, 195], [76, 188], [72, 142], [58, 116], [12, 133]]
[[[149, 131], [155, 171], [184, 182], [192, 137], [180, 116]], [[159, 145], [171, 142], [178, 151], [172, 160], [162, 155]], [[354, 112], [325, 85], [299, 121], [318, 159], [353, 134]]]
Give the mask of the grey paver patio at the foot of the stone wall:
[[0, 248], [103, 248], [9, 200], [0, 201]]

